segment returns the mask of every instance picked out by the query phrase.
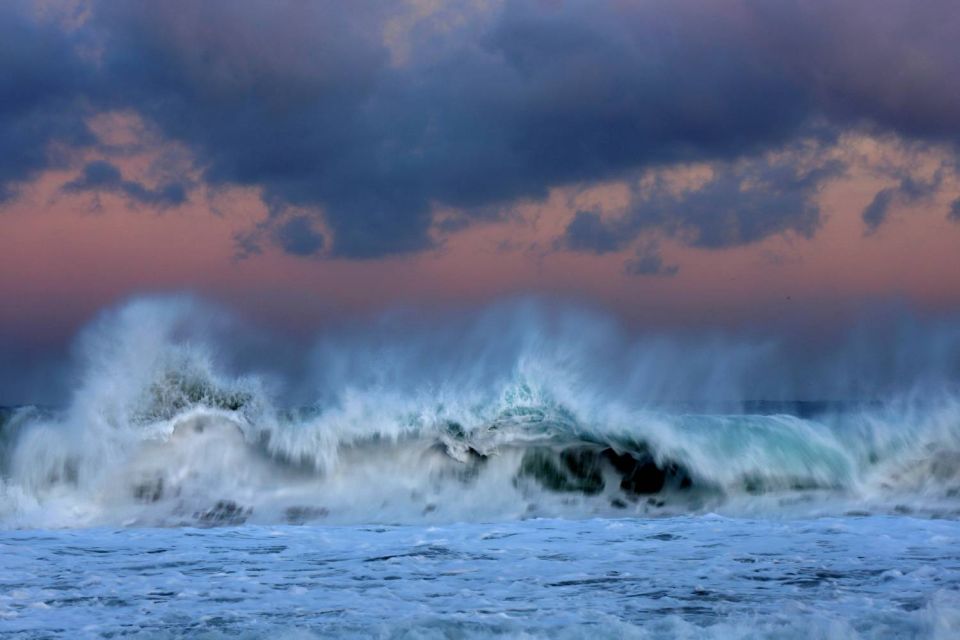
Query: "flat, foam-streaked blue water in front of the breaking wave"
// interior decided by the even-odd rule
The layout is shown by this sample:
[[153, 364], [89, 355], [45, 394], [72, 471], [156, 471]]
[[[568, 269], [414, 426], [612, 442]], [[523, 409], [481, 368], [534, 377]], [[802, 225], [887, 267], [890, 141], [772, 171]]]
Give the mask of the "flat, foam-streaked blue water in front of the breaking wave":
[[0, 635], [954, 638], [960, 523], [714, 515], [0, 534]]

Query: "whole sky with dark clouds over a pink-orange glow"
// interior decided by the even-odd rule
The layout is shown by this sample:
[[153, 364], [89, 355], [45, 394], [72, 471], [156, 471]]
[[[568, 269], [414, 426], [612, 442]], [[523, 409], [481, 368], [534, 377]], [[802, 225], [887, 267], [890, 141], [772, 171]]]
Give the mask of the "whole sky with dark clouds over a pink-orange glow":
[[958, 42], [955, 0], [7, 0], [0, 355], [169, 291], [289, 335], [946, 317]]

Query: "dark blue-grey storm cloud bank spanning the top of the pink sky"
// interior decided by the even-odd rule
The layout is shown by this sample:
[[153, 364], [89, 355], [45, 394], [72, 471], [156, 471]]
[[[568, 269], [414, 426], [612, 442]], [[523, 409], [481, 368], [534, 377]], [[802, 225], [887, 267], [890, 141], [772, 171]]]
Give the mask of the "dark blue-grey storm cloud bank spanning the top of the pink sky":
[[[435, 205], [489, 219], [552, 186], [757, 157], [850, 127], [957, 143], [953, 4], [506, 0], [460, 20], [473, 5], [452, 2], [402, 36], [398, 62], [384, 33], [409, 10], [400, 3], [93, 0], [80, 36], [96, 55], [81, 73], [62, 71], [81, 64], [69, 47], [80, 36], [54, 38], [49, 56], [22, 53], [42, 37], [14, 34], [7, 49], [28, 61], [28, 80], [11, 86], [48, 81], [16, 98], [39, 118], [33, 153], [66, 137], [62, 110], [47, 105], [92, 74], [90, 104], [132, 109], [185, 143], [208, 183], [261, 187], [268, 201], [314, 211], [329, 255], [372, 258], [431, 247]], [[0, 135], [24, 130], [12, 121]], [[0, 164], [0, 182], [44, 162]], [[813, 233], [811, 187], [780, 178], [745, 195], [735, 175], [682, 203], [661, 194], [617, 232], [661, 226], [715, 248]], [[578, 219], [562, 240], [570, 248], [624, 246], [589, 214]], [[285, 237], [274, 241], [295, 253], [327, 250], [319, 234]]]

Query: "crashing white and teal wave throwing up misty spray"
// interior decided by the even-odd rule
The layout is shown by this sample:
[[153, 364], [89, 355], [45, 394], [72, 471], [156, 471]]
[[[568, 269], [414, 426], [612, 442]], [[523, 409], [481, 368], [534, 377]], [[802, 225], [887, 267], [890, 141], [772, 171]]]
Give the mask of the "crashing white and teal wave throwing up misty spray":
[[62, 408], [0, 411], [0, 524], [960, 513], [942, 375], [882, 402], [757, 404], [768, 343], [631, 342], [529, 302], [404, 323], [333, 332], [285, 379], [238, 365], [242, 330], [196, 300], [108, 312]]

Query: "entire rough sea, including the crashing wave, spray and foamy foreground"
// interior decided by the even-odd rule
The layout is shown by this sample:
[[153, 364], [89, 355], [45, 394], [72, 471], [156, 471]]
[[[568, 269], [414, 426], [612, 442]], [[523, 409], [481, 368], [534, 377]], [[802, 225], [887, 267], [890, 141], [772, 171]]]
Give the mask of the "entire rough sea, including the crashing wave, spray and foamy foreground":
[[960, 637], [949, 385], [737, 402], [743, 350], [498, 320], [321, 344], [304, 401], [195, 318], [0, 410], [0, 637]]

